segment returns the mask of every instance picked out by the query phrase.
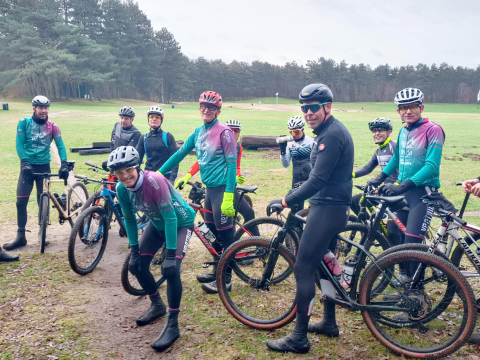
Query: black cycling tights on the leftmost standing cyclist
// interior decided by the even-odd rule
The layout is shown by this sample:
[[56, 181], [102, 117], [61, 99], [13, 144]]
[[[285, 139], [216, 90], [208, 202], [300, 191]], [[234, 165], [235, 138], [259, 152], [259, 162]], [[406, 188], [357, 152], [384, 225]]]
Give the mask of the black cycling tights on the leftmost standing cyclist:
[[[34, 173], [50, 172], [50, 164], [33, 165]], [[17, 224], [18, 230], [25, 231], [27, 225], [27, 205], [28, 199], [33, 189], [33, 183], [37, 186], [37, 204], [40, 200], [40, 194], [43, 191], [43, 178], [42, 177], [29, 177], [25, 178], [20, 171], [17, 184]]]

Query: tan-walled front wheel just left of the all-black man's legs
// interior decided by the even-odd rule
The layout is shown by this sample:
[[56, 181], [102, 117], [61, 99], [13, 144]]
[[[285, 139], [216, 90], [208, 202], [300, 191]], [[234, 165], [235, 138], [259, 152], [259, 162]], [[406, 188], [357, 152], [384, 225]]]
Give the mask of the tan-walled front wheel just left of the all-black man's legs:
[[[240, 259], [253, 260], [241, 272], [248, 275], [248, 281], [238, 276]], [[296, 315], [295, 276], [290, 272], [281, 282], [269, 280], [275, 274], [292, 269], [294, 264], [295, 257], [285, 246], [280, 245], [278, 251], [274, 251], [267, 238], [254, 236], [233, 243], [217, 265], [218, 294], [223, 305], [235, 319], [252, 328], [272, 330], [285, 326]], [[262, 286], [266, 270], [271, 270], [272, 275]], [[229, 280], [231, 285], [227, 285]]]

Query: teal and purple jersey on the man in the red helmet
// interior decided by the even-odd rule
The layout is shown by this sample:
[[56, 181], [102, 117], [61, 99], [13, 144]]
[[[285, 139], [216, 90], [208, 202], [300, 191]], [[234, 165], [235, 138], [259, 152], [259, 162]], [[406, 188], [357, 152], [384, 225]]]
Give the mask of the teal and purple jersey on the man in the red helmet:
[[185, 144], [163, 164], [160, 172], [167, 174], [193, 149], [205, 186], [225, 186], [225, 192], [233, 193], [236, 185], [237, 141], [232, 130], [217, 119], [196, 128]]

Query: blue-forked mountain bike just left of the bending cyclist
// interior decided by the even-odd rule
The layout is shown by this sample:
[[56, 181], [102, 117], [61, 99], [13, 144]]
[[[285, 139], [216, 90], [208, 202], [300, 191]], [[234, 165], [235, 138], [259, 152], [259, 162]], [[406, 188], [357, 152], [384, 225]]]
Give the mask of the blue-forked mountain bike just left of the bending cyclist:
[[[73, 271], [80, 275], [92, 272], [102, 259], [107, 246], [110, 224], [115, 215], [120, 226], [120, 232], [127, 233], [122, 209], [118, 201], [115, 201], [115, 191], [110, 190], [115, 182], [106, 179], [94, 180], [75, 175], [86, 184], [98, 183], [102, 186], [100, 191], [89, 199], [89, 204], [84, 207], [81, 215], [75, 222], [70, 233], [68, 242], [68, 262]], [[109, 188], [110, 187], [110, 188]], [[138, 230], [147, 225], [146, 217], [137, 217]]]

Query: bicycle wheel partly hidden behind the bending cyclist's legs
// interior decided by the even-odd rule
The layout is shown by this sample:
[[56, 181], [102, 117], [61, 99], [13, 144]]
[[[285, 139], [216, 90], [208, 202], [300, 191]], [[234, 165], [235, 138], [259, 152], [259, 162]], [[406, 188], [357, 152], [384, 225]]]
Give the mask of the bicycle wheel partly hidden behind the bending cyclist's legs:
[[[157, 284], [157, 288], [163, 284], [165, 279], [162, 276], [162, 263], [165, 259], [165, 244], [156, 252], [155, 256], [150, 263], [150, 272], [152, 273], [155, 282]], [[147, 295], [145, 290], [143, 290], [142, 286], [138, 283], [137, 278], [135, 275], [132, 275], [130, 271], [128, 271], [128, 263], [130, 262], [130, 253], [128, 253], [127, 258], [123, 262], [122, 266], [122, 286], [123, 289], [133, 296], [144, 296]]]

